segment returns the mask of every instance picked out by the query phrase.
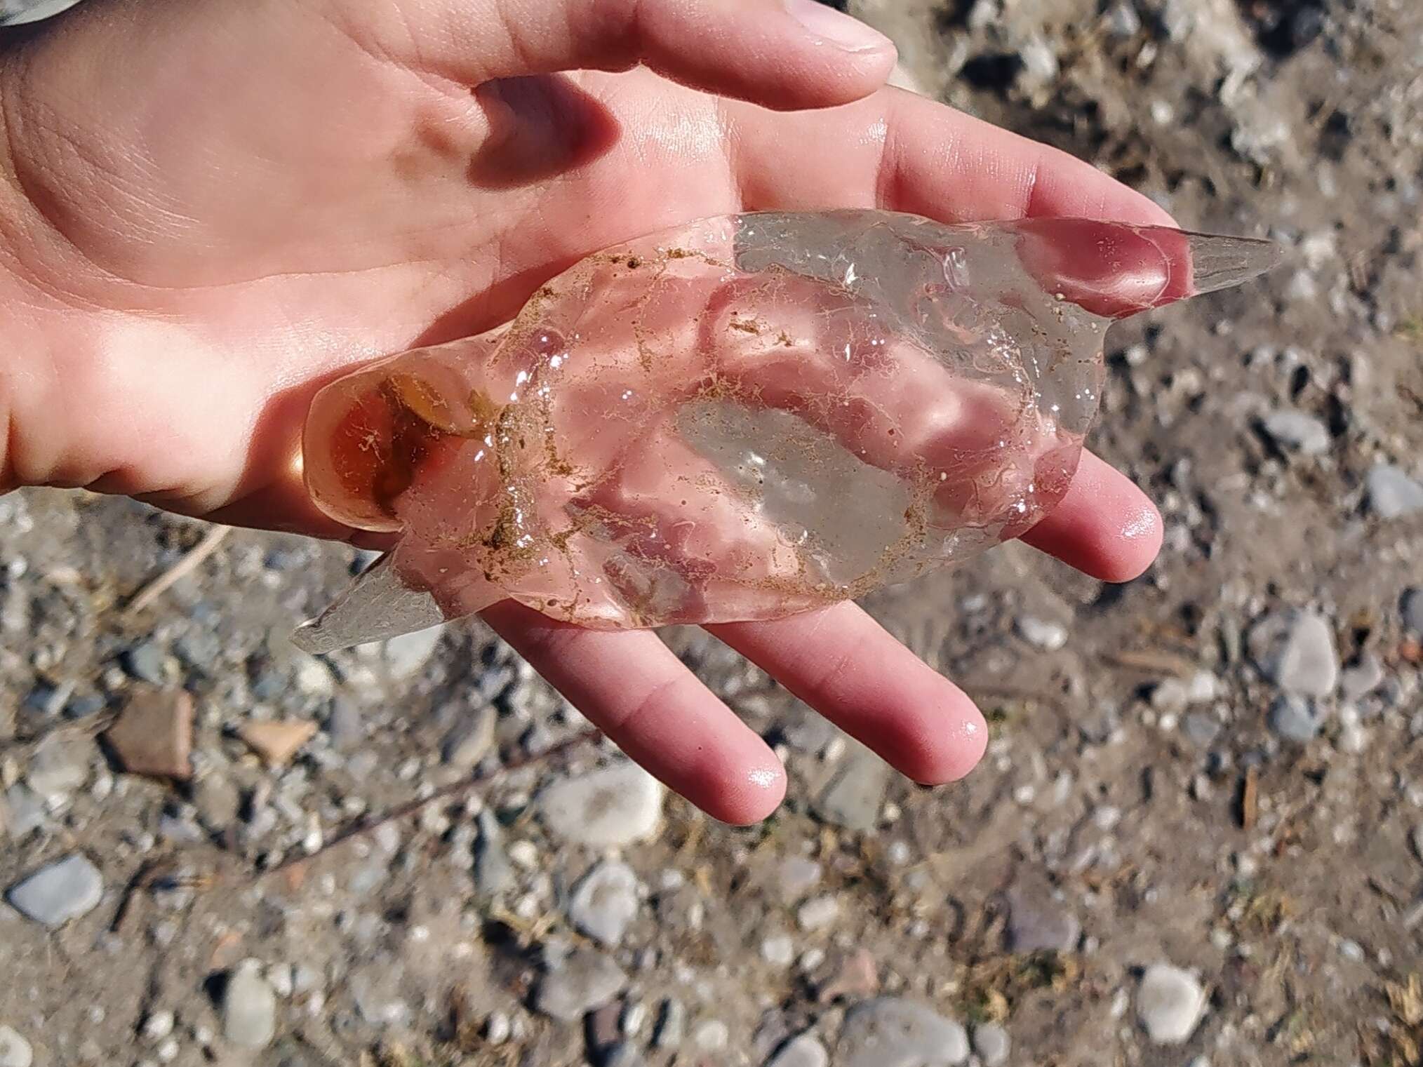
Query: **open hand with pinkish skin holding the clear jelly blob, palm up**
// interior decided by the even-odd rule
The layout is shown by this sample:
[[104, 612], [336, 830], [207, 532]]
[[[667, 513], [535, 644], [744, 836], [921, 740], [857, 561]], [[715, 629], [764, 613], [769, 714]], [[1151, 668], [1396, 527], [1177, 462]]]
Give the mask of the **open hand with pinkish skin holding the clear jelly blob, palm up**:
[[[295, 462], [313, 391], [497, 324], [588, 252], [761, 208], [1170, 223], [881, 90], [892, 47], [835, 44], [857, 26], [771, 0], [91, 0], [0, 47], [0, 488], [350, 536]], [[1025, 539], [1124, 580], [1160, 518], [1084, 457]], [[656, 635], [485, 617], [712, 815], [780, 802], [776, 755]], [[713, 633], [916, 781], [983, 751], [969, 699], [854, 605]]]

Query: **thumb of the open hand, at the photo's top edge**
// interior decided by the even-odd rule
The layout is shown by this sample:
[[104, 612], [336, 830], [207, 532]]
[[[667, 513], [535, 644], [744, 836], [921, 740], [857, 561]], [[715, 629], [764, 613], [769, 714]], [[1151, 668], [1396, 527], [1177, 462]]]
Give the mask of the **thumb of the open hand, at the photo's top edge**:
[[889, 77], [888, 37], [815, 0], [347, 0], [346, 30], [387, 55], [478, 85], [643, 64], [777, 110], [867, 97]]

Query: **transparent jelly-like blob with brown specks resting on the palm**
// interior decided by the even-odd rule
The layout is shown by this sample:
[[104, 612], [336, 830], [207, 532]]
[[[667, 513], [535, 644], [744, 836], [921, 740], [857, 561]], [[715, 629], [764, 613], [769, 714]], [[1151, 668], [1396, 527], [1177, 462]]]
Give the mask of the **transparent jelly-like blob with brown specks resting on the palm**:
[[1062, 499], [1113, 319], [1276, 258], [878, 211], [721, 216], [589, 256], [499, 330], [316, 396], [312, 497], [401, 538], [296, 642], [504, 598], [605, 629], [773, 619], [968, 559]]

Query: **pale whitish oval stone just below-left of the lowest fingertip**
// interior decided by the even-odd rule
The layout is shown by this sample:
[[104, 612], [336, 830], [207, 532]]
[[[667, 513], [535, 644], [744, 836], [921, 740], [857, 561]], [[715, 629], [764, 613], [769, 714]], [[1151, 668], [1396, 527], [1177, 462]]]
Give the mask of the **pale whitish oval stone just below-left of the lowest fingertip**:
[[612, 848], [647, 841], [662, 822], [662, 782], [638, 764], [619, 760], [561, 778], [538, 798], [544, 825], [576, 845]]

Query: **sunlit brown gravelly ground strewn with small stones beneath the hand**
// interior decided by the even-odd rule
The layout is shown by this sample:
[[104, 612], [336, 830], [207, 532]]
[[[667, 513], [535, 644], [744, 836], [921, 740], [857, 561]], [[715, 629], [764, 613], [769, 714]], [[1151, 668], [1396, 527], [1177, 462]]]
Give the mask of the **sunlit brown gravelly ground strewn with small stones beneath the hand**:
[[1423, 10], [858, 10], [924, 91], [1289, 245], [1113, 337], [1157, 566], [869, 605], [990, 713], [941, 790], [669, 633], [790, 770], [730, 829], [558, 747], [480, 626], [297, 653], [349, 549], [233, 532], [134, 610], [202, 526], [6, 497], [0, 1067], [1420, 1063]]

